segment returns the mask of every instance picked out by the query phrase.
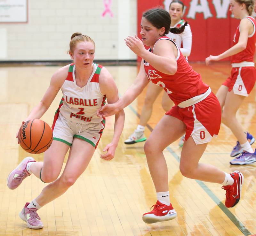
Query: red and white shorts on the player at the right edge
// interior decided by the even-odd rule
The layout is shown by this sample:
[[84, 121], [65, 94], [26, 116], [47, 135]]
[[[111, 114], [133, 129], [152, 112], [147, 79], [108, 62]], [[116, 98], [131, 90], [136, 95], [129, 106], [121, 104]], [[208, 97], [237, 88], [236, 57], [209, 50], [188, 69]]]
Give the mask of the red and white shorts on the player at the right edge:
[[227, 86], [229, 92], [233, 89], [234, 94], [247, 97], [252, 91], [255, 80], [255, 67], [234, 67], [231, 70], [230, 77], [222, 85]]

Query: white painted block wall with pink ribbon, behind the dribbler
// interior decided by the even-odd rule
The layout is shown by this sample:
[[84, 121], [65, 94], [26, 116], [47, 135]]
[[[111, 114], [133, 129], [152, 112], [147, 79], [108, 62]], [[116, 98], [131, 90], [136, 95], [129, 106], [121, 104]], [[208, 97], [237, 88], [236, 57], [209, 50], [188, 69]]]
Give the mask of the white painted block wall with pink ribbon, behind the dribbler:
[[0, 61], [68, 60], [74, 32], [95, 41], [96, 60], [136, 59], [124, 43], [136, 26], [137, 0], [28, 0], [28, 23], [0, 24]]

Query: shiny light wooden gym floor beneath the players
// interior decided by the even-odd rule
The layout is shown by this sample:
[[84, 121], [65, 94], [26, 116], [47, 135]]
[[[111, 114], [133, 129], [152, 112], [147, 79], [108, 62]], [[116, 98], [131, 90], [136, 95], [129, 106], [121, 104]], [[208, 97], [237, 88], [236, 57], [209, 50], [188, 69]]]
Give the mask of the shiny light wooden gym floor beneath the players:
[[[191, 63], [200, 72], [204, 82], [216, 93], [230, 72], [228, 63], [209, 67]], [[113, 75], [122, 95], [135, 79], [136, 66], [106, 66]], [[125, 145], [124, 140], [136, 128], [146, 90], [125, 108], [125, 126], [116, 156], [104, 161], [99, 155], [111, 141], [113, 117], [107, 118], [100, 145], [83, 175], [60, 198], [38, 211], [44, 228], [31, 230], [19, 217], [26, 202], [33, 200], [46, 185], [35, 176], [24, 180], [19, 188], [6, 186], [9, 172], [28, 156], [17, 144], [15, 134], [49, 85], [53, 72], [59, 66], [0, 67], [0, 235], [252, 235], [256, 234], [256, 164], [231, 166], [230, 152], [236, 144], [231, 131], [221, 125], [217, 139], [209, 143], [201, 162], [221, 170], [239, 170], [245, 181], [242, 198], [236, 207], [227, 209], [225, 191], [218, 184], [204, 183], [183, 177], [179, 171], [181, 148], [178, 142], [164, 150], [169, 169], [171, 202], [178, 213], [172, 221], [145, 224], [142, 214], [156, 203], [155, 188], [150, 177], [143, 143]], [[50, 109], [42, 117], [52, 124], [53, 114], [60, 102], [57, 95]], [[154, 105], [153, 115], [146, 128], [146, 136], [164, 115], [162, 95]], [[255, 89], [238, 111], [244, 130], [256, 136]], [[253, 148], [256, 145], [253, 144]], [[42, 161], [43, 154], [32, 155]], [[66, 160], [65, 160], [66, 162]], [[65, 163], [64, 163], [65, 164]]]

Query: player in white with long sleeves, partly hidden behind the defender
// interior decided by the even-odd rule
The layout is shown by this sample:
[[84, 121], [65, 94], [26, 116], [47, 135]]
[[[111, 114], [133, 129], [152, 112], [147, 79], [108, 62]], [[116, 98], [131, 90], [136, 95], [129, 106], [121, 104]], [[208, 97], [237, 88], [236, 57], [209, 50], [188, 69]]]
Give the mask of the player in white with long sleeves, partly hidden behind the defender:
[[[174, 0], [169, 6], [169, 14], [171, 17], [171, 28], [180, 27], [184, 25], [185, 21], [182, 18], [184, 10], [184, 4], [180, 0]], [[192, 33], [190, 26], [187, 25], [182, 34], [169, 33], [168, 36], [172, 39], [177, 46], [180, 48], [181, 53], [184, 57], [188, 58], [191, 52], [192, 45]], [[130, 137], [124, 141], [125, 144], [133, 144], [137, 142], [142, 142], [146, 140], [144, 136], [145, 126], [147, 125], [153, 110], [153, 104], [156, 101], [157, 96], [163, 91], [159, 86], [153, 83], [148, 85], [147, 94], [145, 97], [145, 102], [141, 111], [140, 122], [137, 129], [130, 135]], [[173, 103], [166, 93], [163, 94], [162, 107], [165, 111], [171, 109]], [[183, 146], [185, 136], [182, 136], [179, 142], [180, 146]]]

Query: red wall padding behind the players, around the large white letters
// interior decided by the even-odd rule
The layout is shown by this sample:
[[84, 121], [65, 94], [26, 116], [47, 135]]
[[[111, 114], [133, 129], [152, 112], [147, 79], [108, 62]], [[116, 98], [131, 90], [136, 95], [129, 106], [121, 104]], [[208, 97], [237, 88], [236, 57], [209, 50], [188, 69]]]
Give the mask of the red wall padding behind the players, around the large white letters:
[[[184, 5], [186, 6], [183, 19], [189, 21], [192, 31], [192, 50], [188, 60], [204, 61], [205, 57], [208, 57], [210, 54], [218, 55], [232, 46], [233, 36], [236, 31], [236, 27], [239, 25], [239, 20], [231, 18], [229, 6], [227, 14], [225, 14], [226, 18], [216, 18], [217, 13], [212, 0], [205, 0], [208, 2], [207, 5], [209, 6], [212, 14], [211, 17], [204, 19], [204, 13], [197, 12], [195, 14], [195, 19], [188, 18], [187, 15], [192, 1], [194, 0], [183, 0]], [[197, 4], [199, 4], [202, 0], [195, 1], [197, 1]], [[215, 0], [215, 3], [216, 1], [222, 2], [221, 0]], [[140, 20], [143, 12], [157, 6], [164, 7], [164, 1], [137, 1], [138, 35], [140, 35]], [[229, 58], [225, 58], [224, 60], [227, 61]]]

